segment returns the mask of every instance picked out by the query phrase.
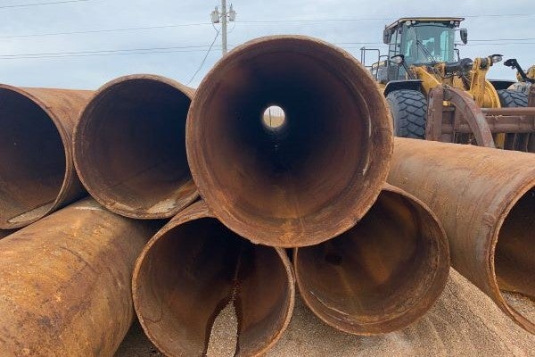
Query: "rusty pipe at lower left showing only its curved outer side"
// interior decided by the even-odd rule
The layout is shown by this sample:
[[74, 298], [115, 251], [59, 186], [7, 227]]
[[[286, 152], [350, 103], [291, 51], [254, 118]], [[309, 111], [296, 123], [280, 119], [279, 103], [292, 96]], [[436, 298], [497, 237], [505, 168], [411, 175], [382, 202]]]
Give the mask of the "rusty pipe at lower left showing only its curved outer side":
[[134, 317], [130, 279], [158, 222], [91, 199], [0, 241], [0, 355], [112, 356]]

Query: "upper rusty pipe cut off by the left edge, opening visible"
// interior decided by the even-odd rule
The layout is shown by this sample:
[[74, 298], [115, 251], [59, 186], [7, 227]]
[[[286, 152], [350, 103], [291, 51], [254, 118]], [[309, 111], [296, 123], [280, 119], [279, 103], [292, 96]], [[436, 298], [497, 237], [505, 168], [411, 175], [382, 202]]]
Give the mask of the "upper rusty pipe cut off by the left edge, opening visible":
[[70, 142], [91, 94], [0, 85], [0, 229], [27, 226], [86, 195]]

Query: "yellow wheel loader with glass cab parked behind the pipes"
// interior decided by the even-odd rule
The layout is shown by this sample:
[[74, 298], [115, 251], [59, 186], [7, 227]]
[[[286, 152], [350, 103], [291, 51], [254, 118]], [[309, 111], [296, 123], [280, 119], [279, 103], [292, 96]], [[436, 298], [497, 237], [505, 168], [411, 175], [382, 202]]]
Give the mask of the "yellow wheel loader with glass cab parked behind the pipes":
[[[463, 18], [402, 18], [383, 31], [388, 54], [369, 66], [383, 88], [398, 137], [535, 152], [535, 92], [510, 89], [512, 80], [489, 80], [501, 54], [460, 58], [455, 42]], [[532, 86], [535, 87], [535, 86]], [[514, 97], [514, 100], [512, 100]]]

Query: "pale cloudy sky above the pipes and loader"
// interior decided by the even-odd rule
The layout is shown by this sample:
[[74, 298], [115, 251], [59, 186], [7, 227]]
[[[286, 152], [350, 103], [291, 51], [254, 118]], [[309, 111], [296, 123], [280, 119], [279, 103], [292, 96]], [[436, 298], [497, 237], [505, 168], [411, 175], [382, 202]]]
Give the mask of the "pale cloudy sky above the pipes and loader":
[[[218, 2], [0, 0], [0, 82], [96, 89], [122, 75], [153, 73], [196, 87], [221, 57], [220, 37], [209, 52], [218, 29], [210, 23], [210, 12]], [[361, 46], [385, 48], [384, 26], [399, 17], [459, 16], [466, 17], [461, 27], [469, 38], [467, 46], [459, 47], [462, 57], [504, 54], [525, 69], [535, 64], [533, 0], [233, 4], [237, 17], [229, 25], [231, 47], [255, 37], [300, 34], [341, 46], [359, 59]], [[498, 63], [488, 77], [514, 79], [514, 73]]]

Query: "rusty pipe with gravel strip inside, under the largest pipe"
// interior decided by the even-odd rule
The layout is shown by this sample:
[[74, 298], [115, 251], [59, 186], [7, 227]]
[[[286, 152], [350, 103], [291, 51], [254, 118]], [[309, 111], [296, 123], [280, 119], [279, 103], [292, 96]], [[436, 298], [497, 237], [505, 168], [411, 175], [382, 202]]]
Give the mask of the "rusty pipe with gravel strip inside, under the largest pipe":
[[292, 316], [294, 279], [283, 249], [253, 245], [198, 202], [152, 237], [136, 262], [134, 305], [168, 356], [205, 355], [214, 320], [235, 308], [235, 355], [265, 353]]

